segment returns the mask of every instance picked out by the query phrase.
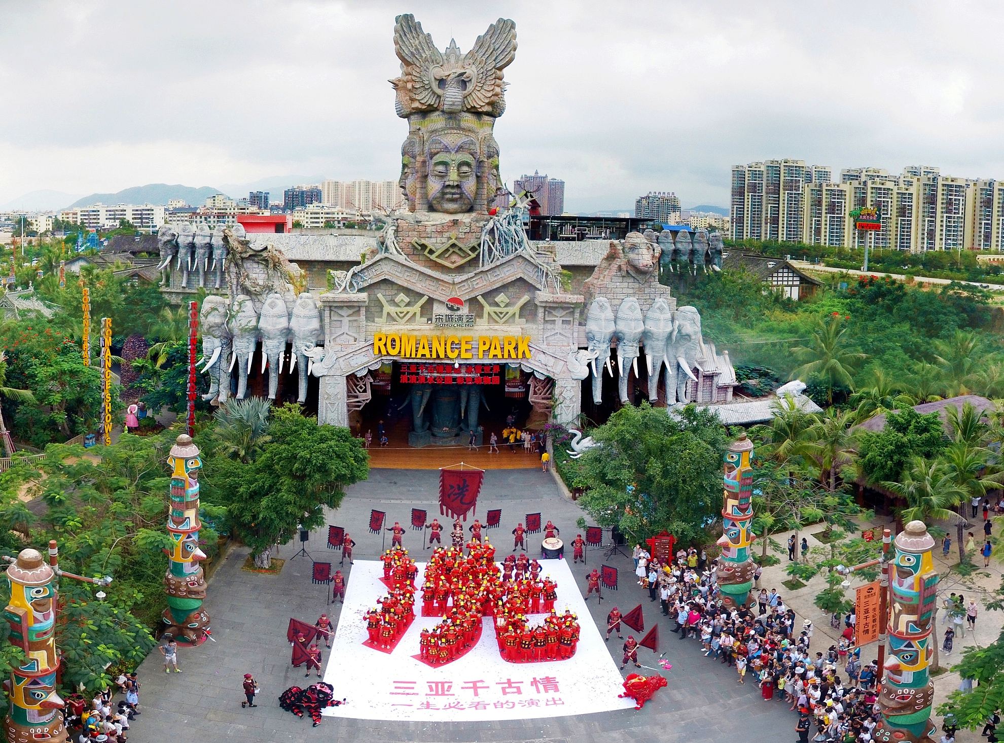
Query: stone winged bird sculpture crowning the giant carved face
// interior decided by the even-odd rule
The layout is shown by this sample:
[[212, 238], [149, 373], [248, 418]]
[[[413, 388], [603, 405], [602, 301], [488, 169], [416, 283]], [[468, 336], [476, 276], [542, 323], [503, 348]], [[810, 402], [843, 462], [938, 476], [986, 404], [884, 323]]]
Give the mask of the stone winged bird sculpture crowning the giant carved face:
[[434, 110], [497, 117], [505, 110], [502, 70], [516, 56], [513, 21], [499, 18], [461, 56], [453, 39], [446, 51], [441, 52], [414, 15], [399, 15], [394, 27], [394, 48], [401, 60], [401, 76], [391, 80], [391, 84], [397, 93], [395, 108], [402, 118]]

